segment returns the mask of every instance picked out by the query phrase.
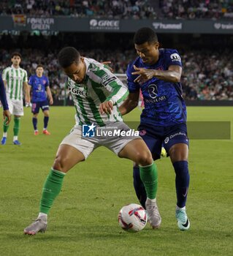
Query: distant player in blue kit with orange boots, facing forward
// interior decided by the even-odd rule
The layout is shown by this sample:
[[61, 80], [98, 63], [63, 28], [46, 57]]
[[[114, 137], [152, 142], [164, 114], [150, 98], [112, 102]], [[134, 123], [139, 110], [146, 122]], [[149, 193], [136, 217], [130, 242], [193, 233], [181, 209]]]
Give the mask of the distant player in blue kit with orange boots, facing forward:
[[32, 75], [28, 80], [28, 85], [31, 86], [32, 89], [31, 112], [33, 113], [32, 123], [34, 126], [34, 135], [39, 135], [39, 131], [37, 129], [39, 108], [41, 108], [44, 113], [43, 134], [50, 135], [50, 132], [47, 131], [47, 124], [50, 115], [47, 97], [49, 98], [50, 105], [53, 105], [53, 97], [50, 91], [49, 80], [45, 75], [43, 75], [43, 72], [44, 69], [42, 65], [38, 65], [36, 69], [37, 75]]

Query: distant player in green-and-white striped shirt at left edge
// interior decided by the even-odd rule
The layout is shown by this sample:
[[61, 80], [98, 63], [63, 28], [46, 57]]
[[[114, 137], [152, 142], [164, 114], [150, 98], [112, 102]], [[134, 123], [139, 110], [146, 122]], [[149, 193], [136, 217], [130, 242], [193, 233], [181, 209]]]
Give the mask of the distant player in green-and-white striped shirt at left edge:
[[[20, 53], [12, 53], [12, 66], [7, 67], [2, 72], [2, 80], [6, 88], [7, 102], [9, 105], [9, 112], [14, 115], [14, 138], [13, 144], [21, 145], [18, 140], [18, 133], [20, 130], [20, 117], [23, 116], [23, 90], [25, 91], [25, 100], [30, 102], [30, 95], [28, 91], [28, 75], [25, 69], [20, 68], [21, 55]], [[7, 130], [9, 124], [7, 120], [3, 124], [3, 136], [1, 138], [1, 145], [7, 142]]]

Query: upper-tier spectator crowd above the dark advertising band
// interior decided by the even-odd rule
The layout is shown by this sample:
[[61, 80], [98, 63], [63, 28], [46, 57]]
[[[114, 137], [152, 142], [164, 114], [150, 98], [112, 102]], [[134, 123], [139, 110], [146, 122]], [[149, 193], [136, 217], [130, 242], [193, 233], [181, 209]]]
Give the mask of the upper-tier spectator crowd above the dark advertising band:
[[1, 0], [0, 15], [95, 18], [233, 18], [233, 0]]

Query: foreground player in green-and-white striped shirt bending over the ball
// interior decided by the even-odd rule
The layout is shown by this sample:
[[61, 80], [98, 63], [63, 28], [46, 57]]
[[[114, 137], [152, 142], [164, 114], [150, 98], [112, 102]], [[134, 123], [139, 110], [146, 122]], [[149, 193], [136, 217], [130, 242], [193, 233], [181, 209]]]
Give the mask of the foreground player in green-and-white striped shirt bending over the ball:
[[[47, 214], [61, 191], [64, 176], [99, 146], [105, 146], [118, 157], [131, 159], [140, 166], [140, 176], [147, 192], [145, 206], [148, 219], [150, 225], [157, 228], [161, 222], [156, 205], [158, 176], [145, 142], [139, 135], [129, 135], [127, 138], [121, 135], [96, 136], [98, 132], [107, 130], [129, 132], [130, 128], [123, 123], [118, 110], [118, 103], [129, 94], [127, 87], [106, 66], [81, 57], [75, 48], [63, 48], [58, 54], [58, 61], [68, 76], [69, 91], [76, 108], [76, 125], [58, 147], [53, 167], [42, 189], [39, 215], [35, 222], [24, 229], [24, 233], [35, 235], [45, 232]], [[86, 128], [87, 124], [88, 130], [84, 135], [83, 127]], [[94, 127], [96, 135], [92, 137], [90, 134]], [[109, 168], [106, 171], [110, 171]]]

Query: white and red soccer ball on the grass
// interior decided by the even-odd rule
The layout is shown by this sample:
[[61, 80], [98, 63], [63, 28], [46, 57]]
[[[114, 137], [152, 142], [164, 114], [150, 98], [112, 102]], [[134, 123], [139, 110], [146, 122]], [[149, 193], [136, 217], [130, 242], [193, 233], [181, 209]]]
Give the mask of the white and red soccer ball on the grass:
[[121, 208], [118, 214], [118, 222], [123, 230], [137, 232], [145, 227], [148, 216], [142, 206], [131, 203]]

